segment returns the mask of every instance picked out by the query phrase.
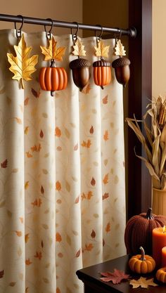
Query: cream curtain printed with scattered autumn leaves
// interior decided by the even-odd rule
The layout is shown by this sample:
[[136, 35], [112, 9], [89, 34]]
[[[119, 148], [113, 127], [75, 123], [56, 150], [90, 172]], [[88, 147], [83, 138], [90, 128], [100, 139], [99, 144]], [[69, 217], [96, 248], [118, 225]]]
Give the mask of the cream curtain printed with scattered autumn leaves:
[[[76, 271], [125, 254], [122, 86], [93, 81], [79, 91], [69, 68], [72, 36], [59, 67], [68, 86], [51, 96], [39, 85], [45, 32], [24, 33], [38, 54], [32, 81], [19, 89], [6, 53], [15, 30], [0, 31], [0, 292], [81, 293]], [[91, 65], [96, 37], [82, 39]], [[113, 60], [114, 39], [110, 45]], [[98, 277], [99, 278], [99, 277]]]

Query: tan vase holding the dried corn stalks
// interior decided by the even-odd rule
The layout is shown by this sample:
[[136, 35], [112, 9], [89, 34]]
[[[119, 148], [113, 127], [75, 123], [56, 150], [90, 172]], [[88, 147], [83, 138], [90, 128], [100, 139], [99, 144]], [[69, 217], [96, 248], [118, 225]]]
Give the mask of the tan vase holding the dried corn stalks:
[[166, 190], [153, 188], [153, 213], [166, 216]]

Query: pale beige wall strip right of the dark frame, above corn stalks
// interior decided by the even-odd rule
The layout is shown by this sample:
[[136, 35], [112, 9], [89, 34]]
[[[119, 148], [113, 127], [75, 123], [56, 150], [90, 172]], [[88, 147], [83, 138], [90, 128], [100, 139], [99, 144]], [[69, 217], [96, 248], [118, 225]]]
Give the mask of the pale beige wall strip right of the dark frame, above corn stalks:
[[152, 96], [166, 96], [166, 1], [153, 0]]

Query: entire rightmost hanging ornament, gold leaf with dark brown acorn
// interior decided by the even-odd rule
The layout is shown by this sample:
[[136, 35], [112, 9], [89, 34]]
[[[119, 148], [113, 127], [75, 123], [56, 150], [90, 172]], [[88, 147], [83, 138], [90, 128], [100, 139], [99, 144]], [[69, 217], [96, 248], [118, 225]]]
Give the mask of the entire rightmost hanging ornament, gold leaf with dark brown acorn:
[[125, 47], [122, 45], [120, 39], [116, 42], [115, 46], [115, 55], [120, 56], [113, 61], [112, 66], [115, 69], [115, 76], [117, 82], [122, 84], [124, 87], [126, 86], [127, 82], [129, 82], [130, 77], [130, 60], [125, 57]]

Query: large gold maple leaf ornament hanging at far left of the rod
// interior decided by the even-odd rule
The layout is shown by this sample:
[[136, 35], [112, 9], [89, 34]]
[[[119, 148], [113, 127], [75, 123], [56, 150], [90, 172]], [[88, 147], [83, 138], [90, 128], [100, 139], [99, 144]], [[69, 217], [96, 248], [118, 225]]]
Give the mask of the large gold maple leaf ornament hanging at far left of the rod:
[[12, 79], [17, 79], [20, 84], [20, 89], [24, 89], [24, 82], [32, 80], [31, 74], [36, 71], [34, 66], [37, 64], [38, 55], [30, 56], [32, 47], [27, 47], [25, 43], [24, 34], [18, 43], [18, 46], [14, 46], [16, 56], [12, 53], [7, 53], [8, 62], [11, 64], [9, 70], [14, 73]]

